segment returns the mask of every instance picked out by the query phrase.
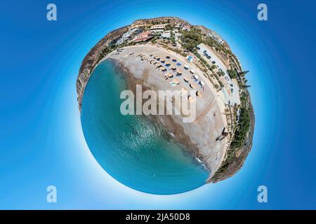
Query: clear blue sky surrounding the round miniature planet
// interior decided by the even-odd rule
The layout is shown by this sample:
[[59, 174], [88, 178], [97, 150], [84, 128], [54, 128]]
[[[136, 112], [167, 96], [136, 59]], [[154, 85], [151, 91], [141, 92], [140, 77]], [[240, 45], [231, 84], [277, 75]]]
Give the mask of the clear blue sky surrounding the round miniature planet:
[[[316, 209], [315, 1], [1, 1], [0, 209]], [[268, 21], [257, 20], [258, 3]], [[75, 82], [107, 32], [138, 18], [178, 16], [228, 41], [250, 70], [254, 146], [220, 183], [180, 195], [121, 185], [91, 155]], [[46, 187], [58, 203], [46, 202]], [[268, 203], [256, 189], [268, 187]]]

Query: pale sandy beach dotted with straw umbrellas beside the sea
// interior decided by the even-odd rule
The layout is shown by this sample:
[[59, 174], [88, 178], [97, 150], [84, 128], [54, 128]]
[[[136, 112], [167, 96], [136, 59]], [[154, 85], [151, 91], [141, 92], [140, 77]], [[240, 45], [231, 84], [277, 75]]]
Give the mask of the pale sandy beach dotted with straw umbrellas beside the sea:
[[[140, 54], [148, 59], [141, 59]], [[166, 59], [166, 55], [169, 55], [170, 59]], [[177, 77], [180, 80], [178, 85], [171, 85], [171, 80], [176, 77], [176, 73], [169, 67], [163, 72], [150, 64], [152, 59], [157, 61], [153, 58], [154, 56], [160, 57], [160, 61], [165, 59], [166, 62], [171, 64], [170, 67], [174, 66], [182, 71], [182, 75]], [[172, 61], [173, 58], [176, 59], [176, 62]], [[187, 62], [185, 57], [165, 48], [159, 48], [156, 45], [126, 47], [120, 52], [110, 53], [104, 59], [112, 59], [118, 62], [129, 74], [133, 75], [133, 78], [135, 78], [132, 81], [133, 83], [137, 81], [137, 83], [142, 83], [152, 90], [181, 90], [181, 88], [185, 88], [202, 92], [202, 97], [196, 99], [197, 116], [193, 123], [183, 123], [182, 117], [176, 115], [158, 116], [158, 118], [159, 122], [174, 135], [176, 141], [187, 146], [199, 160], [204, 162], [210, 171], [209, 178], [211, 178], [220, 167], [228, 148], [227, 139], [216, 141], [227, 123], [224, 115], [225, 105], [218, 98], [216, 90], [209, 80], [204, 77], [202, 71], [193, 63]], [[159, 64], [163, 63], [159, 62]], [[189, 68], [185, 69], [185, 65]], [[194, 69], [195, 75], [205, 83], [204, 88], [198, 84], [199, 81], [192, 78], [190, 69]], [[166, 73], [173, 73], [173, 78], [166, 80]], [[189, 78], [188, 82], [184, 80], [185, 76]], [[194, 83], [194, 88], [190, 88], [189, 83]]]

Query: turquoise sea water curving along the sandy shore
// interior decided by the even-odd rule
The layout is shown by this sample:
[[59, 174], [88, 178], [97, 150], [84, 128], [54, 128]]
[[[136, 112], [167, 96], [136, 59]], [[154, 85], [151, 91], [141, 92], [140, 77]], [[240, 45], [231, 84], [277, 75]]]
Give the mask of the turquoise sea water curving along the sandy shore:
[[209, 172], [162, 125], [146, 116], [123, 116], [126, 78], [110, 61], [93, 71], [82, 104], [88, 147], [114, 179], [145, 193], [169, 195], [203, 186]]

